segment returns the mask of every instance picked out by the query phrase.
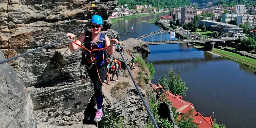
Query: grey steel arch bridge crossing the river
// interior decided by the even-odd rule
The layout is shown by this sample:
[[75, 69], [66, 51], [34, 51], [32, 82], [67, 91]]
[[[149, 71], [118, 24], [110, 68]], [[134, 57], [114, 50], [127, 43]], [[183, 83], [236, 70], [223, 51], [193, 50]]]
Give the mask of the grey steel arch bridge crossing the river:
[[[172, 35], [172, 36], [171, 36]], [[160, 30], [138, 37], [147, 45], [233, 41], [238, 38], [205, 38], [184, 30]]]

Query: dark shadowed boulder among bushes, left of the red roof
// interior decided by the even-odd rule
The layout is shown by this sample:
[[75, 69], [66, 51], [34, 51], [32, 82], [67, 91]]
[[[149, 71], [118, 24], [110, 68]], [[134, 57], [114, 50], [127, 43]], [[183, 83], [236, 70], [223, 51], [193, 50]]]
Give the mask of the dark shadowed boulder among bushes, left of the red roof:
[[160, 118], [162, 117], [163, 119], [168, 119], [169, 122], [174, 124], [174, 117], [170, 104], [166, 102], [160, 103], [158, 108], [158, 115], [160, 116]]

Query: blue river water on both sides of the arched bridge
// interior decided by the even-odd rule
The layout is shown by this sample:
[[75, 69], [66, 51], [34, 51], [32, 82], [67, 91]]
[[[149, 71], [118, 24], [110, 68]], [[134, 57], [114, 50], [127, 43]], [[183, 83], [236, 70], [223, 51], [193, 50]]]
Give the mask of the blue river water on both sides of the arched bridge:
[[[161, 27], [141, 22], [159, 18], [164, 14], [129, 19], [116, 23], [120, 40], [162, 30]], [[256, 75], [255, 70], [207, 51], [186, 44], [149, 45], [148, 62], [154, 64], [156, 83], [168, 71], [181, 71], [186, 82], [184, 100], [194, 104], [204, 116], [212, 116], [227, 128], [255, 128], [256, 126]], [[167, 78], [168, 79], [168, 78]]]

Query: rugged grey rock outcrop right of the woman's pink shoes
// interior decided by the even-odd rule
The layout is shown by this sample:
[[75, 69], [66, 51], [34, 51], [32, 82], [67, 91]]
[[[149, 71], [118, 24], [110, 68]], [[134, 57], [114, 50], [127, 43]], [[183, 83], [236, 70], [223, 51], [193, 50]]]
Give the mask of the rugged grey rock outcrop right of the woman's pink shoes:
[[[133, 84], [133, 83], [130, 83]], [[145, 94], [142, 94], [145, 96]], [[110, 99], [105, 97], [106, 102], [110, 103]], [[147, 111], [138, 95], [134, 85], [125, 90], [123, 97], [114, 100], [114, 103], [103, 105], [104, 113], [112, 112], [115, 115], [126, 117], [128, 126], [134, 125], [135, 128], [144, 128], [146, 126]]]

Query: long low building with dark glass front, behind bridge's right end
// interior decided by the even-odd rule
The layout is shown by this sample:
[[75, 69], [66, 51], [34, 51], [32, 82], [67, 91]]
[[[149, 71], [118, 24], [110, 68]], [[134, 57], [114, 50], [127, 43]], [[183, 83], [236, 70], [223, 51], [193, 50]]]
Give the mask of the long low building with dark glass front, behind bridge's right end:
[[205, 23], [205, 26], [208, 27], [209, 31], [217, 31], [221, 35], [226, 35], [232, 37], [233, 34], [243, 33], [243, 28], [240, 28], [239, 25], [232, 25], [227, 23], [221, 23], [217, 21], [209, 20], [198, 20], [198, 26], [201, 27]]

